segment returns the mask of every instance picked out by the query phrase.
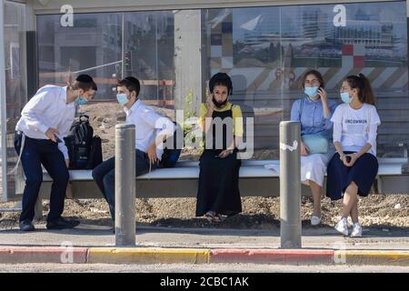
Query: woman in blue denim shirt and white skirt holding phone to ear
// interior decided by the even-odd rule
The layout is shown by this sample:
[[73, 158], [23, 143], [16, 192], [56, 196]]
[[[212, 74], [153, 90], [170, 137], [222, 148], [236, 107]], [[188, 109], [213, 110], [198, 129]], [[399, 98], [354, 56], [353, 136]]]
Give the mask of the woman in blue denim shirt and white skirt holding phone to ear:
[[303, 87], [305, 96], [294, 102], [291, 109], [291, 120], [301, 123], [301, 181], [311, 188], [314, 199], [311, 224], [317, 226], [321, 222], [324, 175], [326, 166], [334, 154], [334, 148], [330, 147], [326, 154], [311, 154], [308, 146], [304, 144], [303, 136], [322, 135], [328, 139], [328, 145], [331, 146], [333, 127], [331, 116], [337, 104], [328, 100], [324, 90], [324, 79], [320, 72], [307, 71], [303, 77]]

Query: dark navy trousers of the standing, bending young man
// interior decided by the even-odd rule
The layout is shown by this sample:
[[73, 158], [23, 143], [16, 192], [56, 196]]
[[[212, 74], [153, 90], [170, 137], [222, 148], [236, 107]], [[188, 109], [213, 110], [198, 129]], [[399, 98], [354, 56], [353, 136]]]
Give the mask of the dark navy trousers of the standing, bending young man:
[[[15, 134], [15, 151], [20, 154], [22, 135]], [[65, 189], [69, 180], [63, 153], [58, 144], [49, 139], [35, 139], [25, 136], [25, 147], [21, 155], [21, 164], [25, 172], [25, 191], [23, 193], [23, 211], [20, 221], [32, 221], [35, 216], [35, 202], [43, 182], [43, 169], [53, 178], [50, 194], [50, 212], [47, 221], [61, 217], [64, 211]]]

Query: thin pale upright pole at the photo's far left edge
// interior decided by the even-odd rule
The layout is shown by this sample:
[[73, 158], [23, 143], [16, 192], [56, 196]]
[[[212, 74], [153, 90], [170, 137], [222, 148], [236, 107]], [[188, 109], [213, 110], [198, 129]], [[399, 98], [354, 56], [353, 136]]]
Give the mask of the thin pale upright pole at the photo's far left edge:
[[1, 106], [1, 148], [3, 201], [7, 201], [7, 124], [5, 105], [5, 2], [0, 1], [0, 106]]

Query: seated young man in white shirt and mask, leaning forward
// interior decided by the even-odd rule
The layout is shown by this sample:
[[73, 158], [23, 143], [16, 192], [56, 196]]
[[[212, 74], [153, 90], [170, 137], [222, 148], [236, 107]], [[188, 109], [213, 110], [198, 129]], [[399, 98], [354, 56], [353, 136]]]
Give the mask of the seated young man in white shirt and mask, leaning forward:
[[[141, 176], [154, 170], [164, 152], [163, 142], [174, 134], [174, 123], [139, 100], [139, 81], [126, 77], [116, 85], [116, 99], [124, 106], [126, 123], [134, 124], [135, 130], [135, 173]], [[112, 219], [115, 220], [115, 156], [106, 160], [93, 170], [95, 183], [109, 205]]]

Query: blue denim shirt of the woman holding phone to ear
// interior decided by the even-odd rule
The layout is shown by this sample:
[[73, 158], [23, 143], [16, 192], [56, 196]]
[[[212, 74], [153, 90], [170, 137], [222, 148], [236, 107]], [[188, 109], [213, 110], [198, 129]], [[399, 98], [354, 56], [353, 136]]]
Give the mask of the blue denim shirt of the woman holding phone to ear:
[[[291, 121], [301, 122], [301, 135], [322, 134], [328, 139], [331, 139], [333, 135], [331, 117], [338, 104], [333, 100], [328, 100], [330, 113], [324, 117], [321, 99], [311, 101], [309, 98], [304, 97], [304, 105], [302, 105], [302, 102], [303, 98], [295, 100], [291, 108]], [[301, 114], [300, 110], [302, 110]]]

